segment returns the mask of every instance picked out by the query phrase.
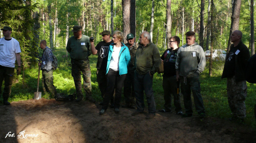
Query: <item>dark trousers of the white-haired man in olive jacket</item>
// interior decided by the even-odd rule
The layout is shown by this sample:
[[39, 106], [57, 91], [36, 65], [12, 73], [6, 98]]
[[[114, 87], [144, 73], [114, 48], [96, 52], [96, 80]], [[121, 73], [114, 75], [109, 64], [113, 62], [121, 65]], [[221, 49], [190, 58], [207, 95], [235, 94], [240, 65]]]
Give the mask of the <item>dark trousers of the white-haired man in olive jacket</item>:
[[149, 113], [156, 113], [156, 103], [154, 100], [152, 85], [153, 77], [149, 75], [149, 72], [140, 75], [137, 73], [137, 71], [134, 71], [134, 92], [136, 98], [137, 111], [144, 111], [145, 105], [143, 91], [145, 91]]

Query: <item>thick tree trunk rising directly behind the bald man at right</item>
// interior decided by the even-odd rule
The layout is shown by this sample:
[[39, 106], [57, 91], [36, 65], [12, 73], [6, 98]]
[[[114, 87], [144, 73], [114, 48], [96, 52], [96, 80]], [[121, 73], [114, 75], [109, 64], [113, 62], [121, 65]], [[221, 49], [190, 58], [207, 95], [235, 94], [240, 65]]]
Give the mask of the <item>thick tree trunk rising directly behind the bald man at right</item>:
[[239, 16], [240, 16], [241, 0], [234, 0], [232, 4], [232, 16], [231, 16], [231, 25], [230, 25], [230, 34], [228, 39], [228, 50], [230, 51], [231, 39], [230, 36], [234, 30], [239, 29]]

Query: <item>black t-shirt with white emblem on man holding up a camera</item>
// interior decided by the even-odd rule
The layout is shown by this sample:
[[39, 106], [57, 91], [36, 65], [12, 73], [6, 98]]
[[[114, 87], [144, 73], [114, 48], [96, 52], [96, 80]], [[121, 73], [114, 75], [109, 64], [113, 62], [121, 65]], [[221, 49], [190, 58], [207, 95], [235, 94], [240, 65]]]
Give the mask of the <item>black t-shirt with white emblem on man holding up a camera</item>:
[[109, 45], [113, 43], [111, 42], [100, 42], [96, 45], [95, 49], [98, 51], [98, 61], [97, 61], [97, 70], [105, 70], [107, 69], [107, 55], [109, 51]]

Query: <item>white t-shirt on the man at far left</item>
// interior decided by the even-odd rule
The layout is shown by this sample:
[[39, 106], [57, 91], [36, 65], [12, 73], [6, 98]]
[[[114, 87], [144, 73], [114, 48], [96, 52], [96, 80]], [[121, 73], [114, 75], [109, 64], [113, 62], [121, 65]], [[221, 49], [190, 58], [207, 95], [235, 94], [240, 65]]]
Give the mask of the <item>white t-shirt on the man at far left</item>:
[[16, 53], [21, 53], [19, 42], [12, 38], [5, 40], [5, 37], [0, 39], [0, 65], [4, 67], [15, 67]]

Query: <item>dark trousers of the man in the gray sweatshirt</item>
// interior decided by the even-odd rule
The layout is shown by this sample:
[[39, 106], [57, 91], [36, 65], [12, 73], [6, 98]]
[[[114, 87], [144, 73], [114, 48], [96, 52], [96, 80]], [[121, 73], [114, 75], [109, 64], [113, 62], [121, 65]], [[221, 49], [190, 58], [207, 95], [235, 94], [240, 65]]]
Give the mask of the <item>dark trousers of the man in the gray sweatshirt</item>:
[[192, 114], [192, 101], [191, 101], [191, 90], [194, 97], [194, 104], [197, 113], [205, 113], [204, 103], [201, 96], [201, 87], [199, 81], [199, 74], [194, 72], [189, 76], [180, 76], [180, 90], [183, 94], [185, 111], [187, 114]]

